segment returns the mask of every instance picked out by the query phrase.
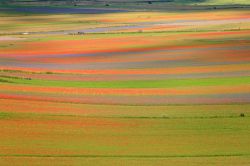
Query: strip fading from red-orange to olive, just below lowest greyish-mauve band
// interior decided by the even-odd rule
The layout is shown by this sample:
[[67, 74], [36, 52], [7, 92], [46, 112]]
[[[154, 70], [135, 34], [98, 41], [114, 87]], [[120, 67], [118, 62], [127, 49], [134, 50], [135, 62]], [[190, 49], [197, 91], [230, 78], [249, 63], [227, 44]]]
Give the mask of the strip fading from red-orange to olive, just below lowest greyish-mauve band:
[[[18, 99], [0, 99], [2, 117], [14, 116], [14, 113], [85, 117], [224, 117], [250, 115], [250, 104], [169, 104], [169, 105], [108, 105], [108, 104], [80, 104], [52, 101], [31, 101]], [[26, 104], [28, 103], [28, 104]], [[13, 110], [9, 105], [15, 105]], [[42, 105], [43, 107], [41, 107]], [[19, 108], [21, 112], [19, 112]], [[51, 110], [51, 108], [53, 108]], [[50, 111], [47, 111], [50, 110]], [[82, 111], [80, 111], [82, 110]], [[80, 111], [80, 112], [79, 112]]]

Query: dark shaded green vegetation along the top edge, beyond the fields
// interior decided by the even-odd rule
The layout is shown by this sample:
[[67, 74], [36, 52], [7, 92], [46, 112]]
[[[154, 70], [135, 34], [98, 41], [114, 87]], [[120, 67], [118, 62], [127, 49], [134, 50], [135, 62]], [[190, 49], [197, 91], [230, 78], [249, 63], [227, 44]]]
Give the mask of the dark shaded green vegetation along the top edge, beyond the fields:
[[61, 6], [85, 8], [124, 8], [147, 10], [207, 10], [245, 8], [248, 0], [0, 0], [3, 6]]

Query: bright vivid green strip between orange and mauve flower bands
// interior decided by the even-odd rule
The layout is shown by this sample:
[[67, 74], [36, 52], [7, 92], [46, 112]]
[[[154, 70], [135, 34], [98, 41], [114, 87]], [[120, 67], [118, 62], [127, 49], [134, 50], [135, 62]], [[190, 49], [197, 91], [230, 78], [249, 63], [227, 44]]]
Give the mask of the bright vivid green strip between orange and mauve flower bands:
[[[169, 80], [136, 80], [136, 81], [53, 81], [23, 78], [0, 77], [1, 82], [16, 84], [78, 87], [78, 88], [175, 88], [192, 86], [232, 86], [250, 84], [250, 77], [202, 78], [202, 79], [169, 79]], [[0, 83], [1, 83], [0, 82]]]

